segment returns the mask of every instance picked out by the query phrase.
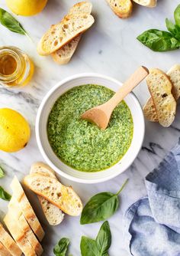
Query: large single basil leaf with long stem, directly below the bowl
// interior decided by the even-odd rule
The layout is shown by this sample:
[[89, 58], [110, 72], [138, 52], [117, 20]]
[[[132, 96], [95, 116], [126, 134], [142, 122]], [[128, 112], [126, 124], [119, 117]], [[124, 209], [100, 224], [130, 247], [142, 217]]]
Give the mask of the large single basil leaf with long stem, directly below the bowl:
[[127, 181], [128, 179], [124, 182], [121, 189], [116, 194], [111, 192], [101, 192], [94, 195], [83, 208], [80, 223], [84, 225], [100, 222], [114, 215], [119, 207], [118, 195], [124, 189]]

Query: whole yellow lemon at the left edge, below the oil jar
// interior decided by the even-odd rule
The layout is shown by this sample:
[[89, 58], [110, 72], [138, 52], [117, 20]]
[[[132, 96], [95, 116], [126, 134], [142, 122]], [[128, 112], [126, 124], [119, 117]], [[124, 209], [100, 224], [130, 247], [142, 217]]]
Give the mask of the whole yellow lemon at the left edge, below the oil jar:
[[0, 150], [11, 153], [23, 149], [30, 136], [30, 126], [20, 113], [0, 109]]

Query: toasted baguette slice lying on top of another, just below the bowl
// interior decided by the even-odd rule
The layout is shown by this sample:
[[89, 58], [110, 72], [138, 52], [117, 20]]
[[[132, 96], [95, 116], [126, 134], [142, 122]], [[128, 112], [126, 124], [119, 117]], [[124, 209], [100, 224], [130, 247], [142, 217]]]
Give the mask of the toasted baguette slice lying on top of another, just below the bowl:
[[25, 176], [24, 183], [37, 195], [43, 196], [66, 214], [72, 216], [81, 214], [82, 202], [72, 187], [66, 187], [56, 179], [36, 173]]

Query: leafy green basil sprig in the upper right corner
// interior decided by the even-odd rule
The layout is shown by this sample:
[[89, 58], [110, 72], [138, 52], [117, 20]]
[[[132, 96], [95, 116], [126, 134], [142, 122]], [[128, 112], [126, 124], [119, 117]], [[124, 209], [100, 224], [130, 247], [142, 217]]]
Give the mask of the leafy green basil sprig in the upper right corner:
[[137, 39], [153, 51], [172, 51], [180, 48], [180, 5], [174, 11], [175, 24], [166, 18], [168, 31], [149, 29]]

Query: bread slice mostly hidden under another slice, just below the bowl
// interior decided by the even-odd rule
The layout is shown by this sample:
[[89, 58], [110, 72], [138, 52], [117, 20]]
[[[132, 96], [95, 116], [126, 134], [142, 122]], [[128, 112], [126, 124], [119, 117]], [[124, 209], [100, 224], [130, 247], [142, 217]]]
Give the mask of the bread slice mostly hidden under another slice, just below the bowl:
[[[30, 173], [43, 174], [44, 176], [56, 179], [53, 169], [43, 162], [35, 162], [31, 166]], [[40, 195], [37, 195], [37, 198], [40, 201], [43, 213], [50, 225], [59, 225], [61, 222], [63, 222], [64, 214], [56, 205], [51, 204], [49, 201], [47, 201], [47, 199], [44, 199]]]

